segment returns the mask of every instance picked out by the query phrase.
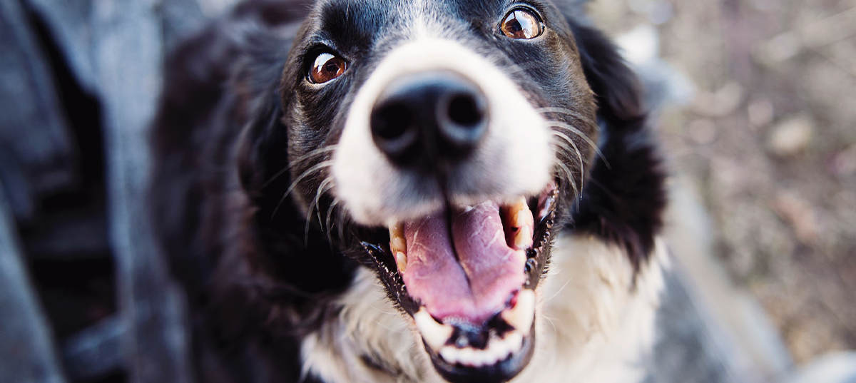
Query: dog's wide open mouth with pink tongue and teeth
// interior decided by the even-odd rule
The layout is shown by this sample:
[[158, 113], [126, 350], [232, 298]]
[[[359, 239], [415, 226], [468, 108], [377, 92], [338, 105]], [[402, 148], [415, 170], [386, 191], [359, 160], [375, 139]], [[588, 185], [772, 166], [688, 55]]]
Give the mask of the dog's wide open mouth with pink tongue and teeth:
[[536, 196], [398, 222], [388, 248], [364, 244], [446, 380], [507, 381], [531, 359], [557, 194], [550, 182]]

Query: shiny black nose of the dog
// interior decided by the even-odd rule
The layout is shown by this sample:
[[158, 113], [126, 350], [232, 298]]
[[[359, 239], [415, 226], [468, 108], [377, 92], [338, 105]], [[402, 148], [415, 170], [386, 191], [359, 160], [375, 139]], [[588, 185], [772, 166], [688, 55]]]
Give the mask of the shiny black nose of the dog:
[[425, 168], [470, 156], [487, 130], [479, 86], [431, 72], [395, 80], [372, 110], [372, 138], [396, 166]]

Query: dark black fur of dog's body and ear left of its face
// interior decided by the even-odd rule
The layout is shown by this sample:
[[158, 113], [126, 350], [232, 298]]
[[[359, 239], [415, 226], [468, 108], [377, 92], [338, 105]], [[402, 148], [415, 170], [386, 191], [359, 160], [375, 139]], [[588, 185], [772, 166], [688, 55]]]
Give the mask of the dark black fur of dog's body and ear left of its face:
[[[290, 184], [284, 174], [263, 187], [288, 163], [275, 91], [291, 42], [243, 17], [260, 16], [223, 21], [169, 59], [153, 136], [154, 227], [187, 292], [200, 380], [297, 381], [297, 339], [335, 315], [356, 265], [320, 236], [304, 246], [292, 203], [270, 215]], [[310, 272], [318, 264], [320, 276]]]

